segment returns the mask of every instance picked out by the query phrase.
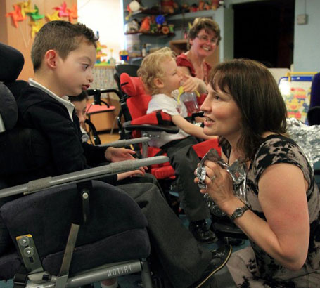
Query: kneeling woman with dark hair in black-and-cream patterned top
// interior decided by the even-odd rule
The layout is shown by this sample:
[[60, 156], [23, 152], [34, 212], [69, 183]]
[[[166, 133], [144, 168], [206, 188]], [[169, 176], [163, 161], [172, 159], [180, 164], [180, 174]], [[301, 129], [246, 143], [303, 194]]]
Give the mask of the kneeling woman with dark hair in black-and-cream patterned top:
[[[286, 106], [264, 65], [231, 60], [210, 74], [201, 106], [222, 159], [247, 167], [246, 201], [217, 162], [205, 162], [207, 192], [250, 240], [231, 256], [238, 287], [319, 287], [320, 197], [312, 167], [286, 136]], [[196, 182], [199, 179], [196, 178]]]

